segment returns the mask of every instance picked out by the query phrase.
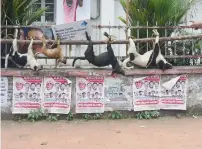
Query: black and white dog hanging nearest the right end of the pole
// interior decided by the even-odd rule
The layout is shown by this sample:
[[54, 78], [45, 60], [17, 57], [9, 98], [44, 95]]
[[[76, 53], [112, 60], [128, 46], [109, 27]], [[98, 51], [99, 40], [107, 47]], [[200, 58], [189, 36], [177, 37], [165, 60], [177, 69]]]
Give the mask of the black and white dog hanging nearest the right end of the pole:
[[154, 48], [144, 53], [143, 55], [137, 52], [135, 43], [133, 42], [131, 37], [129, 38], [129, 49], [128, 49], [129, 57], [125, 59], [121, 64], [123, 68], [133, 69], [133, 66], [127, 67], [128, 62], [145, 68], [157, 65], [163, 71], [172, 68], [172, 65], [168, 63], [161, 54], [158, 31], [153, 30], [153, 33], [156, 36]]

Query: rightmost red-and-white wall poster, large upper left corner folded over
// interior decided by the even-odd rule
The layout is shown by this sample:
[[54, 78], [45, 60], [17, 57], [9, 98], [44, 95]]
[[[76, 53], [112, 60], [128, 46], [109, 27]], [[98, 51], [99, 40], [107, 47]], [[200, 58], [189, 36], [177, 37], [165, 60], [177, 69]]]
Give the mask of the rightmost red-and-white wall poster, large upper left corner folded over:
[[186, 110], [187, 75], [171, 78], [161, 85], [161, 109]]

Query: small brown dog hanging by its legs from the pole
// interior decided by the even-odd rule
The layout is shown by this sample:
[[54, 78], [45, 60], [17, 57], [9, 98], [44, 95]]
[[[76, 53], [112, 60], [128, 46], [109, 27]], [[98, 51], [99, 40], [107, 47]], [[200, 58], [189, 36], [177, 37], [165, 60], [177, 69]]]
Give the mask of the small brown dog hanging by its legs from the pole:
[[[60, 39], [57, 39], [57, 47], [53, 48], [53, 49], [48, 49], [46, 47], [46, 39], [44, 37], [42, 37], [42, 42], [43, 42], [43, 46], [41, 48], [41, 53], [43, 53], [45, 56], [47, 56], [48, 58], [55, 58], [57, 59], [57, 65], [59, 64], [59, 62], [66, 64], [67, 59], [64, 58], [64, 55], [62, 53], [62, 48], [60, 47]], [[40, 52], [37, 52], [35, 54], [35, 56], [37, 54], [39, 54]]]

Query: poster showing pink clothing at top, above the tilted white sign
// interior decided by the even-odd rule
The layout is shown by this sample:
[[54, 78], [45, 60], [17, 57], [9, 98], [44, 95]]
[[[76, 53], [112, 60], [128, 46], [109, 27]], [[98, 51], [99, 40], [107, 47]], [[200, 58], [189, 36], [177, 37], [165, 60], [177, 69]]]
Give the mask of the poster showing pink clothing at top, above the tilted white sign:
[[63, 0], [64, 23], [90, 19], [91, 0]]

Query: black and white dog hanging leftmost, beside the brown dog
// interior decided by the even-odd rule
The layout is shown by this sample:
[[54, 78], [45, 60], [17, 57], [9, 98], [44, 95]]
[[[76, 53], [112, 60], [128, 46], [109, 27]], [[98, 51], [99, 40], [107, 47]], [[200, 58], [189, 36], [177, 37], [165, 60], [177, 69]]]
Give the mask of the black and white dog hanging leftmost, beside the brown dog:
[[[16, 32], [18, 32], [18, 30], [16, 30]], [[31, 42], [28, 46], [28, 52], [26, 54], [20, 54], [18, 52], [17, 36], [15, 36], [15, 39], [12, 42], [12, 47], [10, 48], [9, 53], [6, 55], [5, 58], [5, 68], [8, 68], [8, 59], [10, 58], [10, 60], [18, 68], [23, 68], [26, 65], [29, 65], [30, 68], [34, 71], [40, 70], [42, 67], [37, 62], [32, 49], [33, 41], [34, 40], [31, 39]]]

